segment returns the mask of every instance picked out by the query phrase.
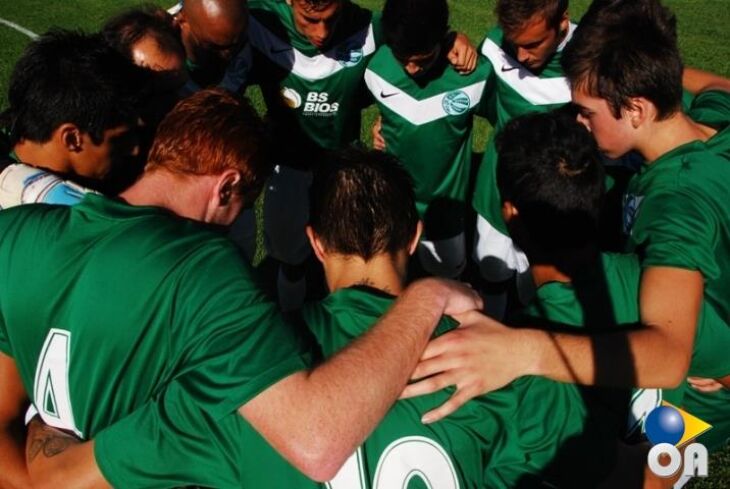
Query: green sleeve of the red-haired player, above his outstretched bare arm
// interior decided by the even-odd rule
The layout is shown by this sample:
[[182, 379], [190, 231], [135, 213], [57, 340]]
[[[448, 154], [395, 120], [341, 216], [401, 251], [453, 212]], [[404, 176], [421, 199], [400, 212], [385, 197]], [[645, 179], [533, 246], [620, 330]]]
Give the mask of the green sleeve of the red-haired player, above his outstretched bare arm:
[[178, 280], [176, 379], [214, 418], [309, 367], [308, 345], [262, 292], [233, 245], [197, 252]]

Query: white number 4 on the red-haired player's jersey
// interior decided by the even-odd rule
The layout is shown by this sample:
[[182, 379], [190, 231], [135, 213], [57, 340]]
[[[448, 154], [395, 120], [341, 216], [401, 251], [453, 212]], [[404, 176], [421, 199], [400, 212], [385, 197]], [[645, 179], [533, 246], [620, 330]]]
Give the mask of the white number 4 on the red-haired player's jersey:
[[52, 328], [43, 343], [33, 384], [33, 400], [43, 422], [54, 428], [73, 431], [76, 428], [68, 385], [71, 333]]

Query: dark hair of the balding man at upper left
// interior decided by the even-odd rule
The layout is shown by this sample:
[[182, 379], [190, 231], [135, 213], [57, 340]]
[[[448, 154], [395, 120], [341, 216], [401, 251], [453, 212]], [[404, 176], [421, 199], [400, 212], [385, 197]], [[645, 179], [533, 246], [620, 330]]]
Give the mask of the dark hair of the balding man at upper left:
[[146, 36], [151, 36], [163, 52], [185, 56], [172, 15], [154, 5], [143, 5], [112, 17], [104, 24], [102, 34], [111, 47], [129, 59], [132, 59], [132, 47]]

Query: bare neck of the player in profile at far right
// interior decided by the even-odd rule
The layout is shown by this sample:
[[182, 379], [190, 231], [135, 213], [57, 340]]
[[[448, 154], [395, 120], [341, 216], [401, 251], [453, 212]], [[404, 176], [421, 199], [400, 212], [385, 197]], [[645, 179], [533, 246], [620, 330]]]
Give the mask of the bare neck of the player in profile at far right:
[[678, 112], [662, 121], [652, 121], [644, 130], [636, 149], [652, 163], [670, 151], [692, 141], [706, 141], [710, 135], [703, 126]]

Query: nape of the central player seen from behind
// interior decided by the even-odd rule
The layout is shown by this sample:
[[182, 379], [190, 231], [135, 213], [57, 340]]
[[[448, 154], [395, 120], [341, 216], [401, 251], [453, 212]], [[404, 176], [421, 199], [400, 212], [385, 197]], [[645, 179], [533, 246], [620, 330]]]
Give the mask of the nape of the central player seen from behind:
[[405, 284], [405, 263], [398, 257], [381, 253], [369, 261], [356, 256], [328, 257], [325, 267], [327, 285], [331, 292], [354, 286], [367, 286], [398, 295]]

